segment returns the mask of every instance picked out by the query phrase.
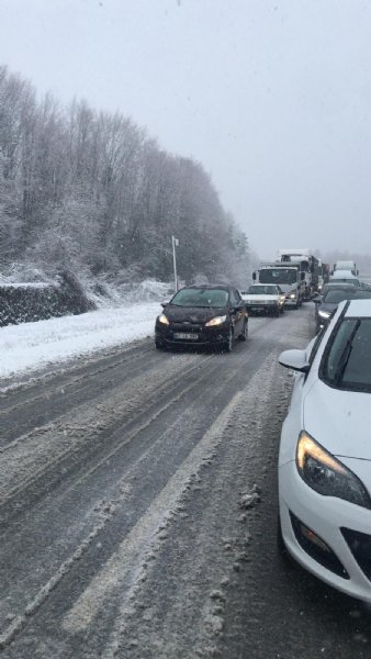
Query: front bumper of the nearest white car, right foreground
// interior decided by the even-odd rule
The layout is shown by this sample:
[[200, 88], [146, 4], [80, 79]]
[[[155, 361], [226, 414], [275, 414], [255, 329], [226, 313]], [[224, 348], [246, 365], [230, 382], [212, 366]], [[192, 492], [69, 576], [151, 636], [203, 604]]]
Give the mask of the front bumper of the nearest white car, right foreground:
[[[279, 468], [279, 501], [283, 540], [297, 562], [334, 588], [371, 603], [371, 510], [318, 494], [299, 476], [294, 461]], [[318, 547], [318, 538], [305, 527], [321, 543]]]

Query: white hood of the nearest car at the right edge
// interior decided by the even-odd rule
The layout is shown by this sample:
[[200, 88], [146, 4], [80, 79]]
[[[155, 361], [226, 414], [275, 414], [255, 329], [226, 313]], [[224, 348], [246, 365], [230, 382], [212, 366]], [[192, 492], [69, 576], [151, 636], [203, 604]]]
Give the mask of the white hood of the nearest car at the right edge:
[[316, 380], [304, 399], [304, 428], [335, 456], [371, 460], [371, 394]]

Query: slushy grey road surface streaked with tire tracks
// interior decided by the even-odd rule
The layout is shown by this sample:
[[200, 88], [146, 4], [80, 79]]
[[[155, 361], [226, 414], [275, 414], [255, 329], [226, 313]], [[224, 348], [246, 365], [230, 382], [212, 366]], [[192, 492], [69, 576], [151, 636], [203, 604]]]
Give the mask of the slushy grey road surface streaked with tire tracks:
[[370, 614], [276, 548], [277, 356], [311, 332], [308, 304], [231, 355], [144, 339], [3, 391], [4, 657], [369, 657]]

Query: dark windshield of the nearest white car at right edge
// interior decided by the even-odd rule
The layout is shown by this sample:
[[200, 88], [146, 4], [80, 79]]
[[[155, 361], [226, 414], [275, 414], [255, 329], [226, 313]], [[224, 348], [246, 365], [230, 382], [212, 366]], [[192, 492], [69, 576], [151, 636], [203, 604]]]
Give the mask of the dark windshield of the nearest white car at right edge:
[[325, 357], [331, 387], [371, 392], [371, 319], [344, 319]]

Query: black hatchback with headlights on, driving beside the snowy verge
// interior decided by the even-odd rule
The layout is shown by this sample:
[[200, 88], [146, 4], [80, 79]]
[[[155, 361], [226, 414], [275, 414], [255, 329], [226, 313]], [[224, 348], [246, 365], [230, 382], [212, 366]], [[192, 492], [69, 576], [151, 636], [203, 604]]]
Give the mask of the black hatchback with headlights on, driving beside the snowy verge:
[[246, 304], [231, 286], [186, 287], [162, 306], [156, 319], [156, 348], [212, 345], [231, 353], [235, 338], [247, 338]]

